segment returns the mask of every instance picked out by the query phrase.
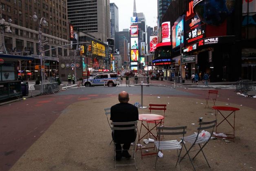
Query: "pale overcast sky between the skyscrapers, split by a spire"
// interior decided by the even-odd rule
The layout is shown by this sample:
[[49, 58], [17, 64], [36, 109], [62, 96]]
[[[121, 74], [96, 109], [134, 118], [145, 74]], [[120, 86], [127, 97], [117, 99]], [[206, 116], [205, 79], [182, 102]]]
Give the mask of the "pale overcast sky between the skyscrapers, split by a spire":
[[[129, 29], [133, 0], [110, 0], [110, 3], [115, 3], [118, 7], [119, 31]], [[136, 12], [144, 13], [148, 26], [157, 26], [157, 0], [136, 0]]]

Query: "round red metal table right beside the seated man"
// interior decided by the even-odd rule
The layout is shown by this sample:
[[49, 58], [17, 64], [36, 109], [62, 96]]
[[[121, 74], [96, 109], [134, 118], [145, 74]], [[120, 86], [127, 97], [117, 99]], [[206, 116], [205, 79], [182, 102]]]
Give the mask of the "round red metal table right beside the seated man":
[[[152, 134], [152, 130], [154, 129], [154, 128], [157, 128], [157, 126], [158, 125], [161, 125], [161, 122], [162, 122], [162, 120], [163, 120], [163, 116], [161, 116], [161, 115], [158, 115], [158, 114], [139, 114], [139, 121], [141, 121], [141, 128], [142, 128], [142, 126], [143, 127], [145, 127], [146, 128], [146, 130], [147, 130], [147, 132], [146, 132], [146, 134], [145, 135], [141, 135], [141, 128], [140, 128], [140, 130], [139, 130], [139, 134], [138, 134], [138, 145], [139, 145], [139, 147], [138, 147], [138, 145], [137, 145], [137, 148], [136, 148], [136, 151], [137, 150], [140, 150], [141, 151], [141, 142], [140, 142], [140, 140], [142, 139], [142, 138], [144, 138], [147, 134]], [[144, 123], [143, 122], [147, 122], [147, 121], [154, 121], [154, 123], [155, 123], [155, 125], [154, 125], [154, 127], [152, 127], [152, 128], [148, 128], [147, 127], [147, 125], [144, 125]], [[158, 122], [157, 122], [158, 121]], [[160, 121], [160, 122], [159, 122]], [[154, 138], [155, 138], [155, 140], [157, 140], [157, 136], [155, 136], [154, 134], [152, 134], [153, 136], [154, 136]], [[154, 147], [147, 147], [147, 148], [143, 148], [143, 149], [151, 149], [151, 148], [154, 148]], [[151, 154], [156, 154], [156, 153], [146, 153], [146, 154], [142, 154], [142, 151], [141, 151], [141, 159], [142, 159], [142, 156], [147, 156], [147, 155], [151, 155]]]

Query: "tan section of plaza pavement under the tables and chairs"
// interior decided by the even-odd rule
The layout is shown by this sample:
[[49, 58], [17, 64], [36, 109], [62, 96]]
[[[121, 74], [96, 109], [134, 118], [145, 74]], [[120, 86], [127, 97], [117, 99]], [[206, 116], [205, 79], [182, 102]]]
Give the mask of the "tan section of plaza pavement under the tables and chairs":
[[[131, 95], [130, 103], [140, 101], [139, 95]], [[114, 170], [113, 144], [110, 128], [104, 115], [104, 108], [118, 103], [117, 96], [112, 98], [90, 99], [69, 105], [49, 129], [24, 153], [11, 168], [12, 171], [106, 171]], [[196, 131], [198, 118], [203, 121], [215, 119], [214, 110], [205, 107], [205, 100], [167, 97], [144, 96], [143, 104], [167, 104], [165, 117], [166, 126], [187, 125], [187, 135]], [[204, 104], [201, 104], [204, 103]], [[226, 105], [218, 102], [218, 105]], [[256, 138], [254, 109], [230, 103], [241, 110], [236, 112], [235, 142], [225, 142], [221, 138], [210, 140], [205, 153], [211, 168], [207, 165], [198, 170], [255, 170], [256, 169]], [[139, 114], [149, 113], [148, 109], [139, 109]], [[154, 112], [162, 114], [161, 112]], [[195, 123], [195, 125], [192, 125]], [[140, 127], [139, 123], [139, 127]], [[223, 130], [231, 130], [224, 126]], [[144, 130], [145, 131], [145, 130]], [[141, 142], [143, 143], [143, 142]], [[147, 145], [148, 146], [148, 145]], [[156, 156], [140, 159], [136, 153], [138, 170], [153, 170]], [[174, 163], [176, 160], [172, 160]], [[122, 161], [129, 162], [129, 161]], [[196, 158], [196, 163], [205, 162], [203, 156]], [[181, 162], [183, 170], [192, 170], [189, 160]], [[179, 167], [176, 168], [179, 170]], [[176, 170], [174, 166], [161, 170]], [[118, 167], [117, 170], [135, 170], [133, 166]]]

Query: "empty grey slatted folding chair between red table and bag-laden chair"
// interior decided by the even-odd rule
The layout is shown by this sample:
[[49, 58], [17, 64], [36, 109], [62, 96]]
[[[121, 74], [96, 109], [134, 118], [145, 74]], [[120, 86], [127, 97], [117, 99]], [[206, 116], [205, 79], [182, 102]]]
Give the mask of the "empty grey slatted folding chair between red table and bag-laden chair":
[[[163, 157], [159, 157], [159, 152], [162, 152], [163, 150], [166, 150], [166, 153], [170, 150], [177, 150], [177, 162], [175, 167], [177, 167], [177, 164], [179, 163], [179, 167], [181, 170], [181, 165], [180, 165], [180, 155], [181, 151], [183, 148], [183, 140], [179, 142], [178, 140], [165, 140], [162, 141], [160, 140], [161, 135], [183, 135], [182, 137], [184, 138], [184, 135], [186, 134], [186, 129], [187, 126], [181, 126], [181, 127], [157, 127], [158, 132], [157, 132], [157, 138], [158, 140], [154, 141], [155, 147], [157, 149], [157, 159], [154, 165], [154, 169], [156, 169], [156, 165], [158, 164], [158, 169], [160, 170], [159, 166], [159, 159], [160, 158], [176, 158], [176, 157], [165, 157], [165, 153], [163, 153]], [[161, 166], [167, 166], [167, 165], [173, 165], [173, 164], [161, 164]]]

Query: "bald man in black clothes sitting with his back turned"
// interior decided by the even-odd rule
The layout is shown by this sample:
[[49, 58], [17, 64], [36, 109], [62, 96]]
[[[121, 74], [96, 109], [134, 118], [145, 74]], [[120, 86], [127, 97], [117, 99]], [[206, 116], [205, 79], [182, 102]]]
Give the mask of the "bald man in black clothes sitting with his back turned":
[[[129, 94], [125, 91], [120, 92], [118, 94], [118, 100], [120, 103], [113, 105], [110, 109], [110, 120], [112, 120], [112, 122], [137, 121], [139, 119], [138, 108], [128, 103]], [[122, 157], [131, 157], [128, 150], [130, 149], [131, 142], [135, 141], [136, 136], [137, 132], [133, 130], [115, 130], [116, 160], [121, 160]], [[123, 151], [121, 151], [121, 144], [124, 144]]]

